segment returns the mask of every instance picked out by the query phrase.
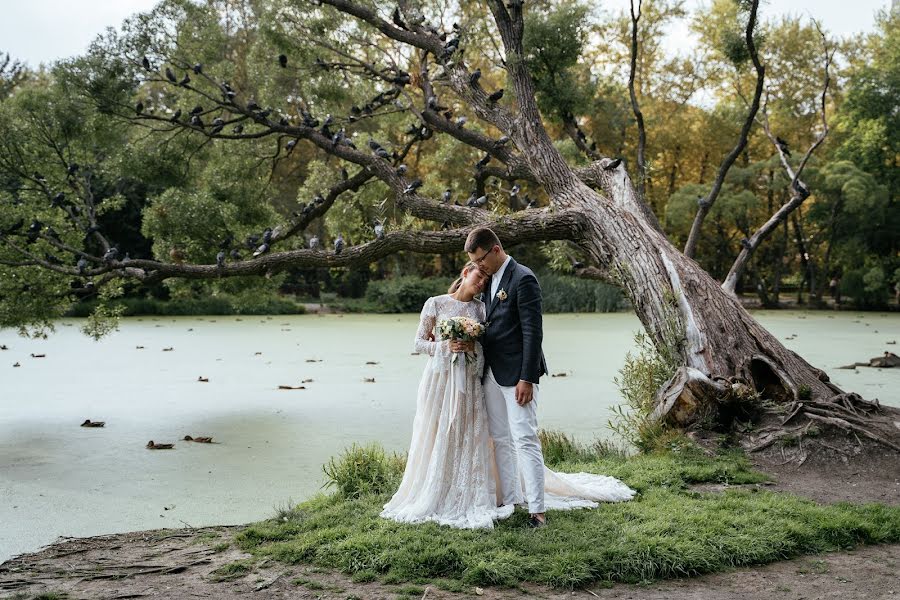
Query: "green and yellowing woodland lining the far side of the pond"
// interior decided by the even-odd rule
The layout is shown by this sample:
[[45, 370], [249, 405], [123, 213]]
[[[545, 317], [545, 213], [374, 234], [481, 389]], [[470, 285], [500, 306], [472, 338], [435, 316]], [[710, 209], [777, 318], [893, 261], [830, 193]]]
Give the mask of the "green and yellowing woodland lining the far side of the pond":
[[[347, 175], [338, 161], [323, 159], [311, 146], [288, 148], [287, 140], [272, 138], [235, 144], [178, 127], [169, 134], [151, 133], [139, 119], [122, 118], [121, 104], [109, 104], [151, 104], [152, 88], [122, 86], [129, 78], [111, 68], [113, 57], [127, 54], [129, 45], [150, 39], [166, 40], [208, 70], [229, 72], [233, 85], [262, 105], [291, 106], [302, 96], [307, 106], [315, 103], [320, 112], [337, 113], [338, 107], [346, 112], [347, 106], [370, 100], [353, 97], [359, 88], [341, 85], [341, 77], [335, 77], [336, 72], [355, 76], [352, 65], [342, 65], [333, 53], [323, 60], [315, 44], [285, 36], [281, 4], [166, 0], [127, 20], [120, 31], [99, 37], [85, 55], [49, 68], [28, 69], [14, 56], [0, 55], [0, 231], [16, 225], [19, 207], [33, 206], [23, 199], [44, 193], [35, 181], [67, 181], [73, 163], [80, 166], [80, 185], [97, 206], [98, 227], [115, 242], [120, 257], [133, 259], [211, 264], [228, 237], [244, 244], [249, 256], [266, 227], [300, 215], [326, 194]], [[698, 199], [709, 192], [718, 161], [738, 138], [752, 95], [755, 74], [741, 52], [739, 8], [718, 0], [689, 14], [680, 2], [643, 4], [635, 93], [646, 126], [644, 194], [678, 247], [687, 240]], [[465, 19], [473, 7], [463, 2], [458, 10]], [[689, 23], [698, 44], [690, 55], [672, 58], [660, 40], [676, 21]], [[884, 11], [873, 32], [831, 41], [836, 54], [826, 96], [830, 131], [807, 167], [812, 195], [753, 254], [737, 285], [748, 303], [896, 307], [897, 21], [897, 11]], [[328, 23], [304, 26], [313, 35]], [[570, 164], [588, 164], [591, 152], [621, 157], [637, 181], [633, 165], [639, 136], [627, 87], [631, 26], [628, 14], [601, 15], [587, 2], [540, 3], [539, 10], [529, 12], [526, 46], [541, 110], [548, 127], [562, 134], [554, 137]], [[470, 60], [477, 63], [479, 52], [486, 58], [479, 47], [495, 44], [489, 30], [467, 35]], [[771, 128], [802, 154], [820, 133], [822, 38], [810, 18], [766, 19], [764, 8], [758, 37], [767, 66]], [[278, 68], [280, 54], [289, 57], [290, 69]], [[490, 65], [485, 66], [487, 73]], [[368, 134], [402, 147], [411, 126], [408, 115], [396, 112], [392, 117], [389, 107], [382, 110]], [[575, 134], [564, 135], [573, 126]], [[482, 190], [498, 214], [528, 204], [546, 206], [537, 186], [522, 182], [521, 190], [512, 193], [511, 182], [485, 177], [473, 168], [479, 156], [450, 136], [438, 136], [416, 144], [407, 163], [431, 197], [441, 197], [446, 189], [453, 201], [466, 202]], [[742, 240], [788, 201], [789, 183], [762, 127], [754, 125], [706, 219], [695, 259], [724, 279]], [[370, 180], [342, 195], [284, 249], [305, 247], [313, 237], [330, 249], [338, 234], [348, 245], [363, 243], [375, 236], [375, 223], [386, 230], [440, 227], [397, 210], [391, 191]], [[51, 250], [44, 257], [54, 262], [58, 258]], [[538, 270], [546, 312], [626, 308], [615, 287], [574, 276], [581, 257], [565, 241], [509, 250]], [[463, 259], [461, 252], [400, 252], [350, 268], [295, 268], [265, 278], [169, 279], [152, 285], [126, 281], [99, 293], [53, 272], [0, 265], [0, 326], [40, 328], [58, 316], [92, 312], [101, 317], [300, 312], [310, 302], [342, 310], [417, 311], [425, 298], [445, 291]]]

